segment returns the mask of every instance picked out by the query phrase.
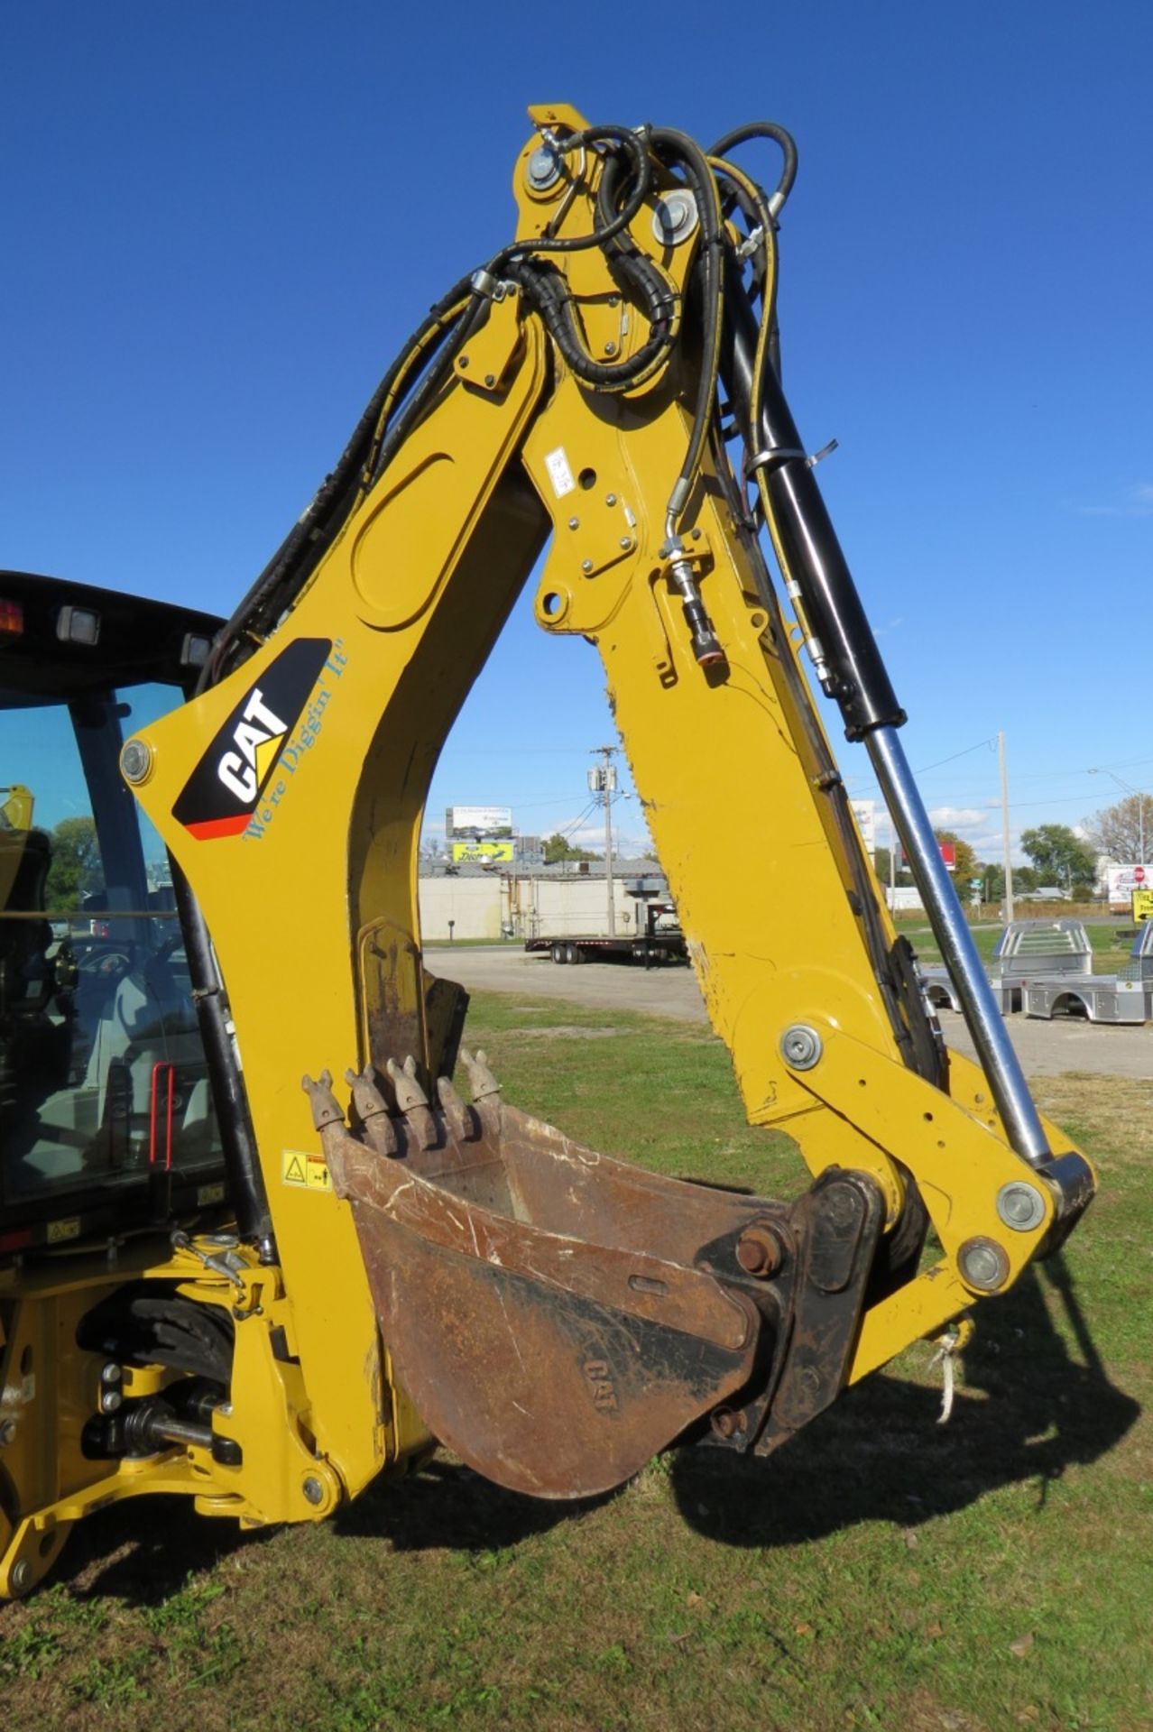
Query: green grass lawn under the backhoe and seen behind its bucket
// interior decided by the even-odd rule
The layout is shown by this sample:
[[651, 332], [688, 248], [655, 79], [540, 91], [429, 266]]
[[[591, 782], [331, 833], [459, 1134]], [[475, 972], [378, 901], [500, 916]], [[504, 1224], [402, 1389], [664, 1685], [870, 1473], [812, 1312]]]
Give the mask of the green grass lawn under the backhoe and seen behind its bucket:
[[[583, 1141], [803, 1188], [703, 1029], [485, 994], [469, 1036], [509, 1098]], [[114, 1507], [0, 1611], [0, 1725], [1148, 1729], [1151, 1089], [1040, 1093], [1101, 1197], [1061, 1259], [982, 1308], [949, 1427], [916, 1346], [767, 1462], [668, 1455], [576, 1509], [443, 1457], [320, 1528]]]

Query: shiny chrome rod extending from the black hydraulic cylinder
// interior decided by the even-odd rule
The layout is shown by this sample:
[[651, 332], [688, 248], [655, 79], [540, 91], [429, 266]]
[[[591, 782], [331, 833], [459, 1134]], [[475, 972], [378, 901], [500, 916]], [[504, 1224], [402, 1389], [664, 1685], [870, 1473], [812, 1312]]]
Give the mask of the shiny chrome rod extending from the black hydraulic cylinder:
[[973, 1036], [976, 1057], [989, 1079], [1009, 1143], [1025, 1160], [1042, 1166], [1051, 1159], [1046, 1133], [1020, 1060], [1013, 1051], [1004, 1018], [994, 1003], [969, 923], [940, 857], [933, 826], [912, 779], [897, 729], [874, 727], [866, 734], [866, 748], [909, 859], [914, 883], [921, 892], [924, 913], [957, 989], [961, 1011]]

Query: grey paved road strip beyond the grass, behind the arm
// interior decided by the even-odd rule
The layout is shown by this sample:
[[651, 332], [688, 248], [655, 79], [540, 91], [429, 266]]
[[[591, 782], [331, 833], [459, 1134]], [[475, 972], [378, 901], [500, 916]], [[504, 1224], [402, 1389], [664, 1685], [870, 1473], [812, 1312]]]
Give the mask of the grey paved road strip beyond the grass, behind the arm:
[[[547, 956], [526, 956], [519, 946], [429, 946], [433, 973], [488, 992], [525, 992], [566, 998], [606, 1010], [644, 1010], [680, 1022], [705, 1022], [705, 1005], [691, 968], [632, 968], [627, 963], [585, 963], [557, 968]], [[940, 1013], [945, 1039], [973, 1053], [968, 1029], [956, 1011]], [[1009, 1034], [1027, 1076], [1089, 1070], [1096, 1076], [1153, 1077], [1153, 1024], [1103, 1027], [1087, 1022], [1035, 1022], [1009, 1017]]]

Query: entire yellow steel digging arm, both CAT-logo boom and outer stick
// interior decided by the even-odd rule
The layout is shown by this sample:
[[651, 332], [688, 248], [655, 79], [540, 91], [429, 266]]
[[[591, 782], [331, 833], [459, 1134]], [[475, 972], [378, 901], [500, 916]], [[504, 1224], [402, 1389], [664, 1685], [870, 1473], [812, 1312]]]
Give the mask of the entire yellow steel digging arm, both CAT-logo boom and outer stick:
[[[585, 133], [571, 109], [531, 113], [545, 140]], [[931, 1031], [916, 996], [879, 982], [878, 942], [888, 954], [895, 934], [845, 821], [800, 670], [802, 625], [767, 585], [744, 488], [724, 473], [712, 426], [670, 514], [710, 365], [708, 331], [680, 336], [691, 268], [712, 242], [699, 223], [679, 227], [668, 197], [679, 189], [658, 173], [622, 242], [647, 262], [649, 301], [630, 296], [602, 246], [540, 253], [533, 301], [525, 260], [592, 234], [608, 171], [589, 139], [549, 178], [542, 130], [514, 173], [521, 251], [464, 291], [473, 324], [436, 391], [383, 473], [365, 471], [280, 613], [239, 620], [223, 677], [147, 729], [133, 764], [135, 792], [211, 932], [237, 1032], [300, 1373], [291, 1424], [345, 1493], [426, 1434], [381, 1360], [348, 1205], [286, 1183], [291, 1160], [317, 1147], [300, 1077], [319, 1062], [339, 1074], [405, 1051], [436, 1063], [419, 965], [424, 802], [443, 738], [549, 535], [537, 618], [602, 656], [750, 1119], [795, 1136], [812, 1173], [867, 1174], [890, 1228], [912, 1174], [940, 1240], [937, 1270], [866, 1313], [853, 1375], [973, 1299], [964, 1244], [994, 1247], [1002, 1289], [1054, 1221], [1053, 1193], [1009, 1147], [982, 1074], [954, 1057], [945, 1093], [928, 1063], [911, 1063], [914, 1036], [931, 1046]], [[554, 319], [542, 313], [545, 293]], [[632, 383], [576, 376], [570, 341], [611, 369], [646, 353], [660, 319], [668, 339]], [[381, 409], [381, 449], [395, 402]], [[718, 658], [701, 653], [703, 625], [694, 648], [686, 601], [705, 610]], [[734, 828], [751, 863], [739, 889]], [[819, 1063], [789, 1060], [786, 1034], [798, 1027], [815, 1036]], [[1054, 1154], [1066, 1147], [1049, 1134]], [[997, 1205], [1013, 1183], [1039, 1199], [1021, 1230]], [[258, 1510], [251, 1493], [253, 1514], [279, 1514], [274, 1503]]]

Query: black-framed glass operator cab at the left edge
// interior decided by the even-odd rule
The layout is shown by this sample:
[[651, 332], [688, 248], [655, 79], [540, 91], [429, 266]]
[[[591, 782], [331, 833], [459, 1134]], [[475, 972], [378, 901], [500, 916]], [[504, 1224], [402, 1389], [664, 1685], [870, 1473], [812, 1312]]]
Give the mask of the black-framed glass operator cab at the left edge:
[[0, 573], [0, 1259], [225, 1200], [159, 835], [119, 774], [220, 622]]

